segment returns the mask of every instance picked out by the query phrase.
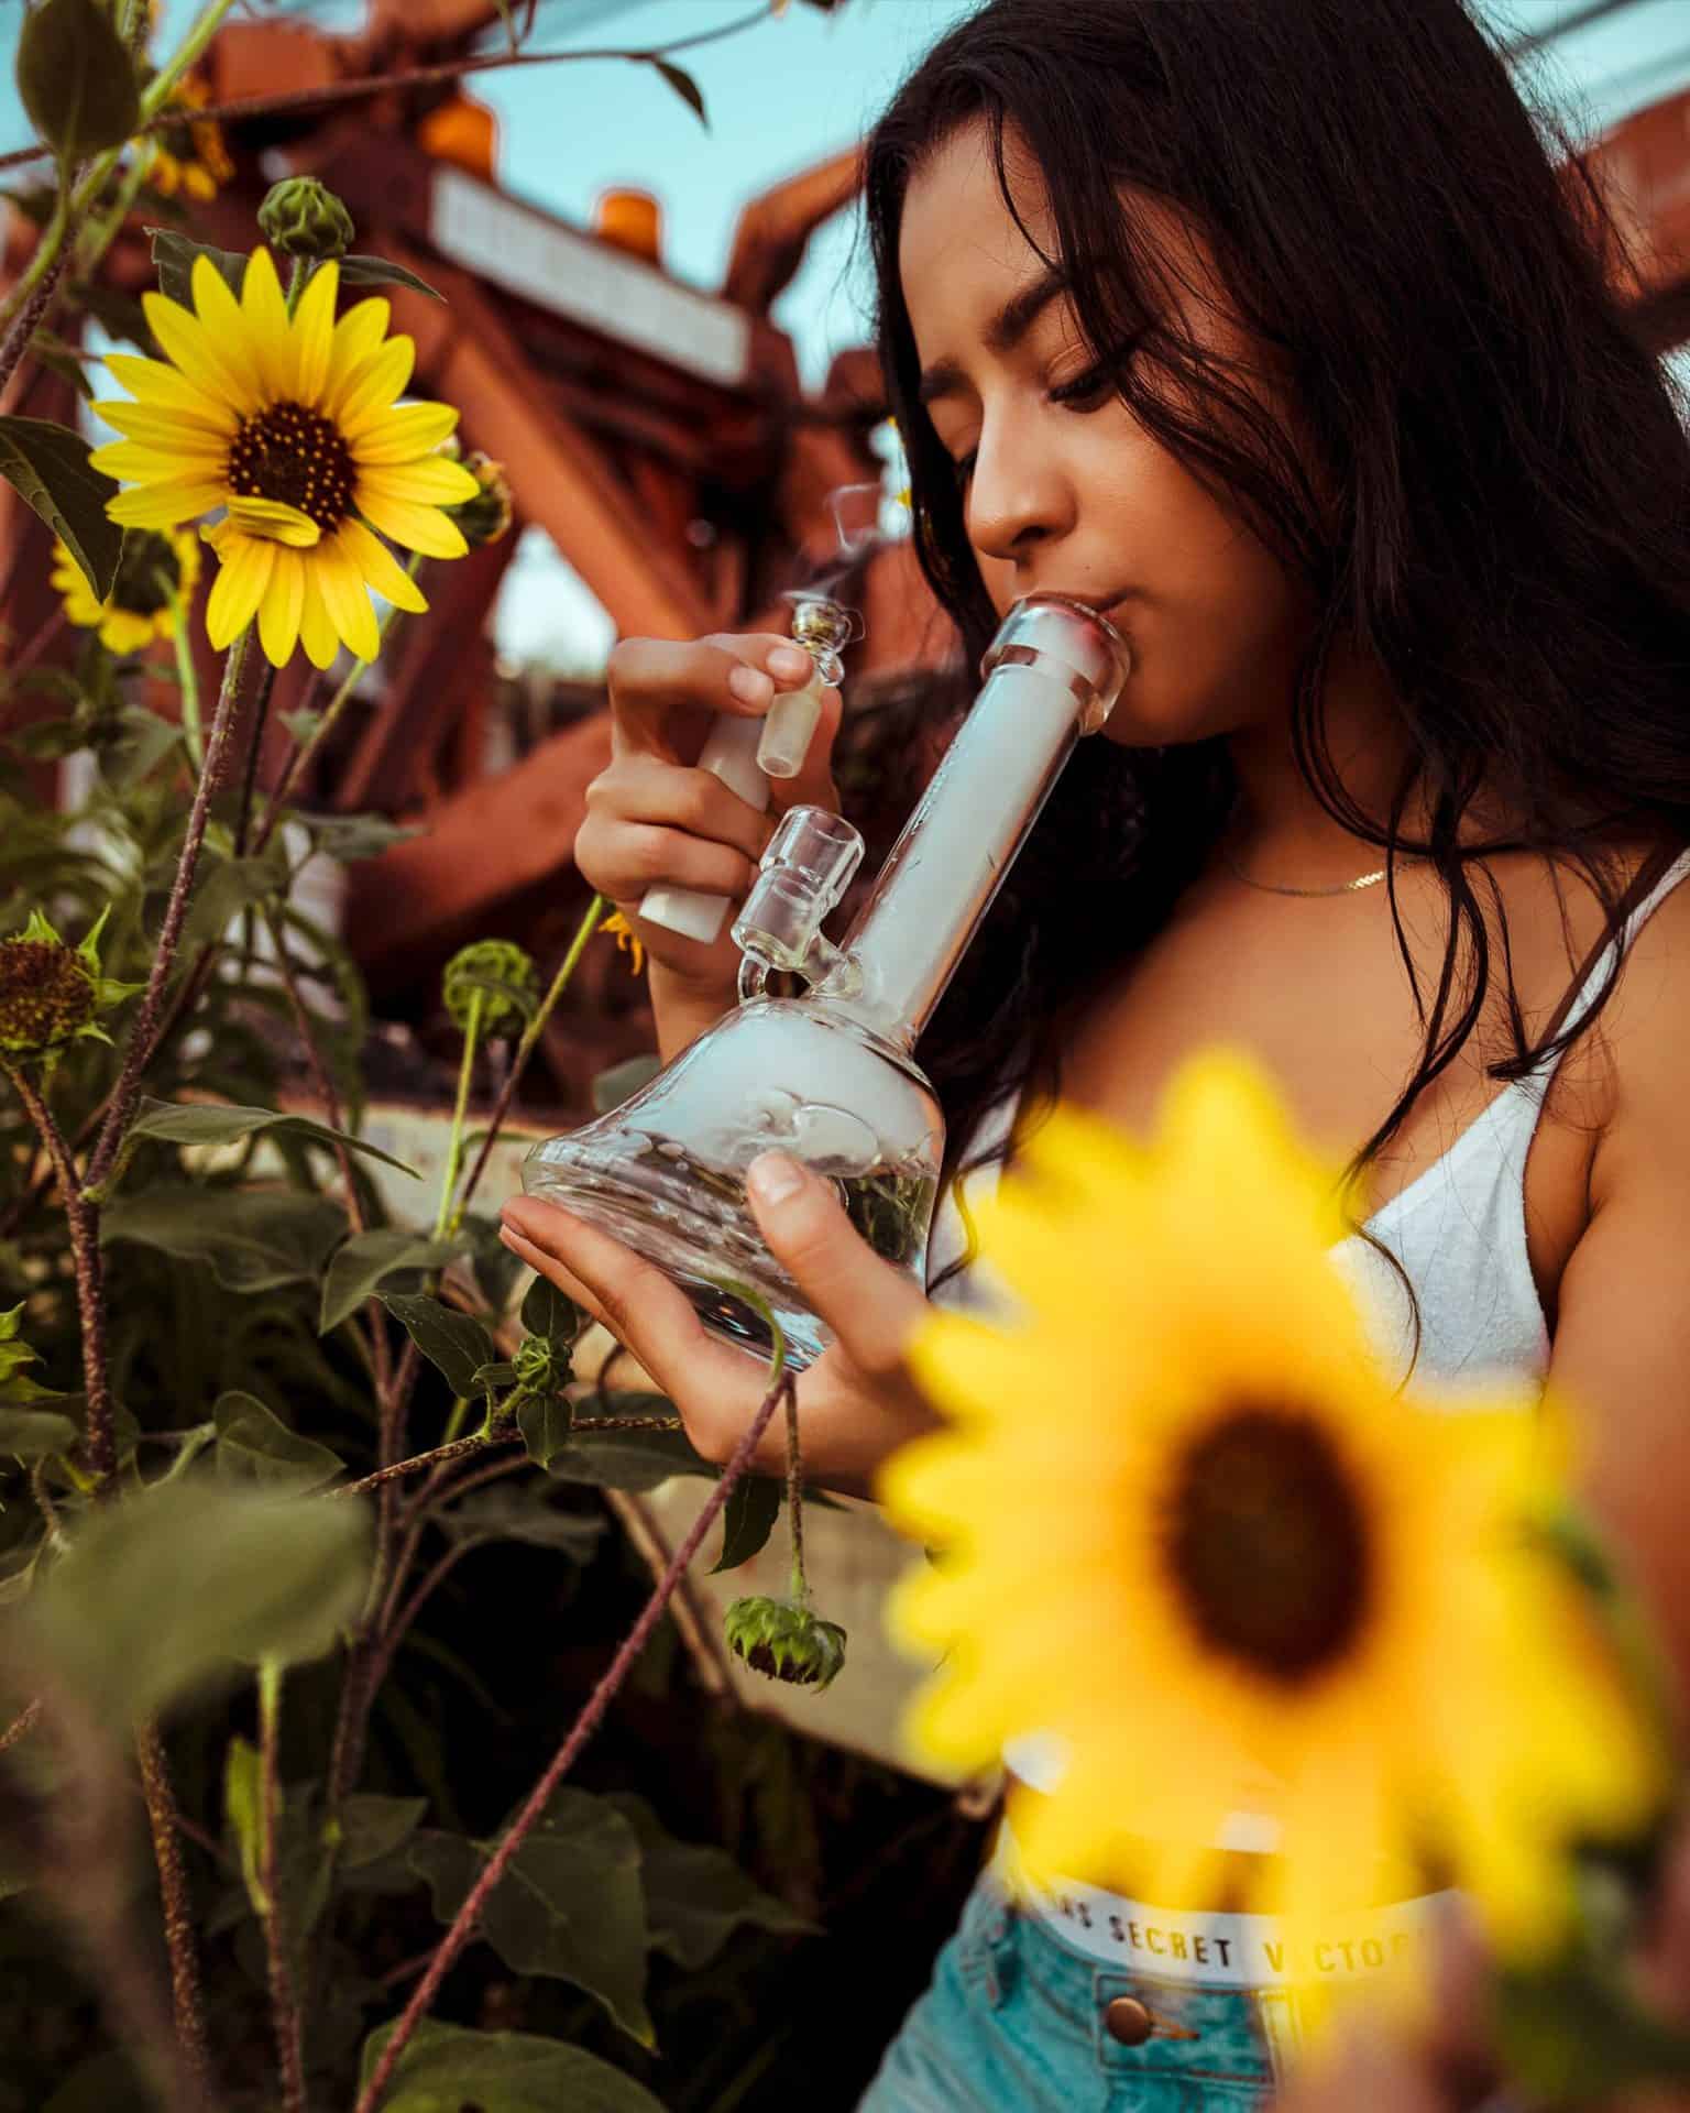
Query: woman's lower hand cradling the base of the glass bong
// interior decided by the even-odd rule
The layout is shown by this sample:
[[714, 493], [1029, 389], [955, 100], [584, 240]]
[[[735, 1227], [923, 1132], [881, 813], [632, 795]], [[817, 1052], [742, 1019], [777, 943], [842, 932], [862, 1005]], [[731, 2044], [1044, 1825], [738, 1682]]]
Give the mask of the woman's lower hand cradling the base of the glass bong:
[[[830, 1185], [784, 1152], [765, 1152], [746, 1175], [756, 1223], [834, 1344], [799, 1376], [799, 1428], [809, 1481], [870, 1496], [881, 1460], [938, 1424], [910, 1384], [904, 1350], [927, 1310], [902, 1270], [858, 1236]], [[625, 1344], [674, 1401], [706, 1460], [729, 1458], [767, 1392], [760, 1359], [708, 1333], [687, 1295], [621, 1240], [558, 1204], [513, 1196], [505, 1245]], [[786, 1473], [786, 1431], [775, 1418], [752, 1466]]]

